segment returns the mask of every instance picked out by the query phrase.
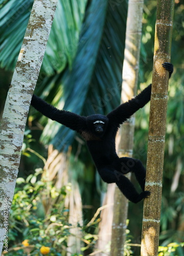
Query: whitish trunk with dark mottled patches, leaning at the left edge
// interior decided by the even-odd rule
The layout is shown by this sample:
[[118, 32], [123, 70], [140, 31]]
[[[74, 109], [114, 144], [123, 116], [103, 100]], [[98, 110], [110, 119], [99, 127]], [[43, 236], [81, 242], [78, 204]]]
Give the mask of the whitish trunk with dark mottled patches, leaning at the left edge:
[[35, 0], [5, 103], [0, 134], [0, 252], [3, 249], [4, 239], [7, 238], [8, 216], [18, 173], [26, 119], [56, 5], [57, 0]]

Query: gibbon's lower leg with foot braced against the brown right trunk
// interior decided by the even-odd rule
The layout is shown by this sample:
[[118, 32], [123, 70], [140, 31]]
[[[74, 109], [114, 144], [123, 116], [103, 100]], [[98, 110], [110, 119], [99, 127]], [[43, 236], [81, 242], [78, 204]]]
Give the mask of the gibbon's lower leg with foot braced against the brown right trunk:
[[141, 194], [137, 193], [130, 180], [118, 170], [112, 170], [107, 166], [98, 169], [98, 172], [103, 181], [107, 183], [116, 183], [123, 195], [133, 203], [137, 203], [150, 195], [149, 191], [143, 191]]

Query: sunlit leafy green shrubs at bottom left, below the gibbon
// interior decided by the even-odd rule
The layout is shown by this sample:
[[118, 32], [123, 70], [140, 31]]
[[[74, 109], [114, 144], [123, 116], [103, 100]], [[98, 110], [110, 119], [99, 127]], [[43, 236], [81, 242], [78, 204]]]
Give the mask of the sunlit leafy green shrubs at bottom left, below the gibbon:
[[[41, 246], [50, 248], [48, 255], [66, 255], [67, 238], [75, 236], [71, 230], [74, 228], [68, 223], [68, 209], [64, 207], [64, 198], [70, 193], [71, 185], [57, 190], [55, 186], [45, 178], [39, 179], [41, 169], [36, 169], [34, 175], [27, 179], [18, 178], [13, 198], [9, 219], [9, 253], [8, 255], [22, 255], [30, 252], [30, 255], [41, 255]], [[52, 209], [45, 215], [45, 205], [48, 200], [56, 200]], [[99, 221], [90, 223], [94, 226]], [[85, 246], [81, 250], [93, 247], [97, 236], [86, 233], [86, 227], [78, 228], [82, 233], [81, 240]], [[28, 246], [21, 245], [27, 241]], [[17, 248], [18, 247], [18, 248]], [[75, 254], [78, 255], [78, 254]]]

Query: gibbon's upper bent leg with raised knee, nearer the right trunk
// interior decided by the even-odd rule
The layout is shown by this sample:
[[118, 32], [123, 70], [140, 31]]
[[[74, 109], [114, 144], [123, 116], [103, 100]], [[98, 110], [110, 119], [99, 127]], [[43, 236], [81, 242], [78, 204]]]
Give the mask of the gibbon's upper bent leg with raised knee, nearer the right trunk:
[[121, 165], [122, 173], [132, 172], [135, 174], [136, 180], [139, 182], [142, 190], [145, 189], [146, 169], [142, 162], [138, 159], [121, 157], [119, 158], [119, 168]]

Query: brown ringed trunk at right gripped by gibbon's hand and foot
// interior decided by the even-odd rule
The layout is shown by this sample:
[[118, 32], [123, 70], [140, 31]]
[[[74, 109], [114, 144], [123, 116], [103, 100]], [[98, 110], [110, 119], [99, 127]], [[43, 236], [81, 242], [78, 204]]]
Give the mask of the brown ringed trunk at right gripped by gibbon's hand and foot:
[[162, 63], [170, 62], [173, 13], [173, 0], [158, 0], [145, 184], [151, 196], [144, 201], [142, 256], [158, 254], [169, 80]]

